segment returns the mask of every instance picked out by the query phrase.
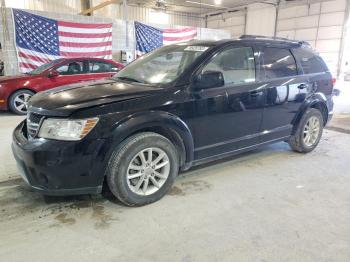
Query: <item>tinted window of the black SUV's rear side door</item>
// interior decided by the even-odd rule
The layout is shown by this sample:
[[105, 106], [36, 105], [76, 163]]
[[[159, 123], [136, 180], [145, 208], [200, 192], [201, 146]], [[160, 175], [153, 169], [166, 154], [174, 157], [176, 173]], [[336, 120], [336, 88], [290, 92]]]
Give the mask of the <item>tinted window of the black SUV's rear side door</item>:
[[265, 48], [263, 51], [264, 64], [267, 79], [295, 76], [297, 66], [292, 53], [287, 49]]

